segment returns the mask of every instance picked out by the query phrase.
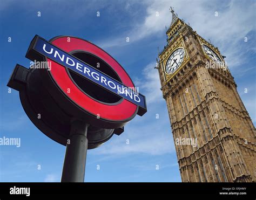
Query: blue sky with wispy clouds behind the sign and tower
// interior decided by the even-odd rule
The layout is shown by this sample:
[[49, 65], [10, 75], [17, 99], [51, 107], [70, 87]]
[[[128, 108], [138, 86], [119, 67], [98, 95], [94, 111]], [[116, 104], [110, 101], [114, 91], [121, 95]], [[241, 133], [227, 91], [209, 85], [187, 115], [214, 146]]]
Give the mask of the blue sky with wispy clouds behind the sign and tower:
[[[35, 35], [45, 39], [71, 35], [90, 40], [123, 65], [146, 95], [148, 112], [143, 117], [136, 116], [122, 135], [114, 135], [103, 146], [87, 151], [85, 181], [181, 181], [169, 116], [159, 89], [158, 72], [153, 68], [158, 46], [161, 50], [166, 44], [165, 26], [171, 23], [169, 6], [226, 56], [255, 124], [255, 1], [2, 1], [0, 134], [20, 137], [21, 147], [0, 146], [1, 182], [60, 180], [65, 147], [30, 122], [18, 92], [8, 93], [6, 87], [16, 63], [29, 67], [25, 53]], [[41, 17], [37, 16], [38, 11]], [[100, 17], [96, 16], [97, 11]], [[129, 43], [126, 37], [130, 38]]]

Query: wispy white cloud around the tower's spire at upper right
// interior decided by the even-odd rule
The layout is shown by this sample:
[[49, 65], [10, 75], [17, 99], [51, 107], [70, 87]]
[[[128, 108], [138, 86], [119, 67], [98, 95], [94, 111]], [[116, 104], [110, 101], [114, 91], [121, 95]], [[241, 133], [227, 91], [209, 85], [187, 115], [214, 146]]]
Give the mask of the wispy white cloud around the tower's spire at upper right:
[[[244, 37], [255, 30], [255, 2], [245, 4], [239, 1], [169, 1], [152, 0], [144, 1], [146, 6], [146, 16], [142, 22], [134, 24], [134, 28], [125, 32], [119, 37], [102, 42], [103, 48], [128, 45], [132, 42], [144, 39], [148, 36], [157, 36], [165, 32], [165, 26], [171, 23], [171, 13], [169, 6], [173, 6], [180, 18], [189, 22], [194, 30], [205, 39], [210, 38], [215, 46], [219, 47], [221, 53], [227, 58], [230, 68], [241, 65], [245, 62], [247, 51], [254, 51], [255, 46], [248, 43], [246, 51], [240, 51], [239, 46], [244, 41]], [[128, 6], [129, 8], [129, 6]], [[159, 12], [159, 16], [156, 16]], [[215, 16], [218, 12], [218, 16]], [[132, 17], [132, 16], [131, 16]], [[137, 16], [133, 16], [137, 17]], [[130, 43], [126, 43], [125, 38], [130, 37]], [[164, 39], [164, 38], [163, 38]], [[253, 42], [251, 42], [253, 43]]]

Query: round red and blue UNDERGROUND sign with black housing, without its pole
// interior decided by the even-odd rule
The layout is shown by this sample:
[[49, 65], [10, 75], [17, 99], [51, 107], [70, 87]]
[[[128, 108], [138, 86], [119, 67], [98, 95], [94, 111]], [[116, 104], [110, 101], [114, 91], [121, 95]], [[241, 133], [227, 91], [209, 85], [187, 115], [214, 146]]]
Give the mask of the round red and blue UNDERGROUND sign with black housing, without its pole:
[[30, 120], [59, 143], [66, 144], [74, 118], [90, 124], [89, 148], [95, 148], [146, 113], [145, 96], [124, 68], [84, 39], [35, 36], [26, 58], [33, 65], [17, 64], [8, 86], [19, 91]]

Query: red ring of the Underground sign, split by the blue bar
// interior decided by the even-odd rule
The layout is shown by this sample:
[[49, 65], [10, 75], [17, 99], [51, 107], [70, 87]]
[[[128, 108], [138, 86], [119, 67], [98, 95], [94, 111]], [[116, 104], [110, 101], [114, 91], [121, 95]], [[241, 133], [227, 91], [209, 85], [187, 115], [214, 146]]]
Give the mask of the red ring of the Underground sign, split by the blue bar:
[[[68, 37], [66, 36], [58, 37], [53, 39], [51, 43], [66, 52], [82, 50], [95, 54], [117, 72], [120, 80], [125, 86], [134, 87], [132, 80], [124, 71], [123, 67], [120, 66], [120, 64], [118, 64], [117, 61], [114, 60], [109, 54], [100, 49], [98, 46], [87, 42], [86, 40], [74, 37], [69, 38], [70, 39], [68, 40]], [[125, 121], [132, 118], [134, 114], [136, 114], [137, 105], [132, 104], [126, 99], [123, 99], [123, 101], [115, 105], [106, 105], [91, 99], [90, 96], [87, 96], [74, 84], [74, 82], [70, 79], [69, 74], [66, 72], [65, 67], [59, 65], [55, 61], [50, 59], [48, 60], [51, 61], [50, 74], [57, 82], [58, 86], [73, 102], [75, 102], [75, 104], [82, 107], [85, 111], [90, 112], [95, 116], [99, 114], [100, 118], [110, 121]], [[68, 93], [68, 88], [72, 92]]]

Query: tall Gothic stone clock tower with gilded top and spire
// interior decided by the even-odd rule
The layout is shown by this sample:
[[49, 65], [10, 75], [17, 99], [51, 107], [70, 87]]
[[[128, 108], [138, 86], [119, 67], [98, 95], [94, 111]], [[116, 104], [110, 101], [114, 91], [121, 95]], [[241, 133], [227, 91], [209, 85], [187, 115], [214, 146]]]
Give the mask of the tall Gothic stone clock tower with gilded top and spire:
[[157, 68], [181, 179], [255, 182], [255, 127], [223, 56], [171, 13]]

